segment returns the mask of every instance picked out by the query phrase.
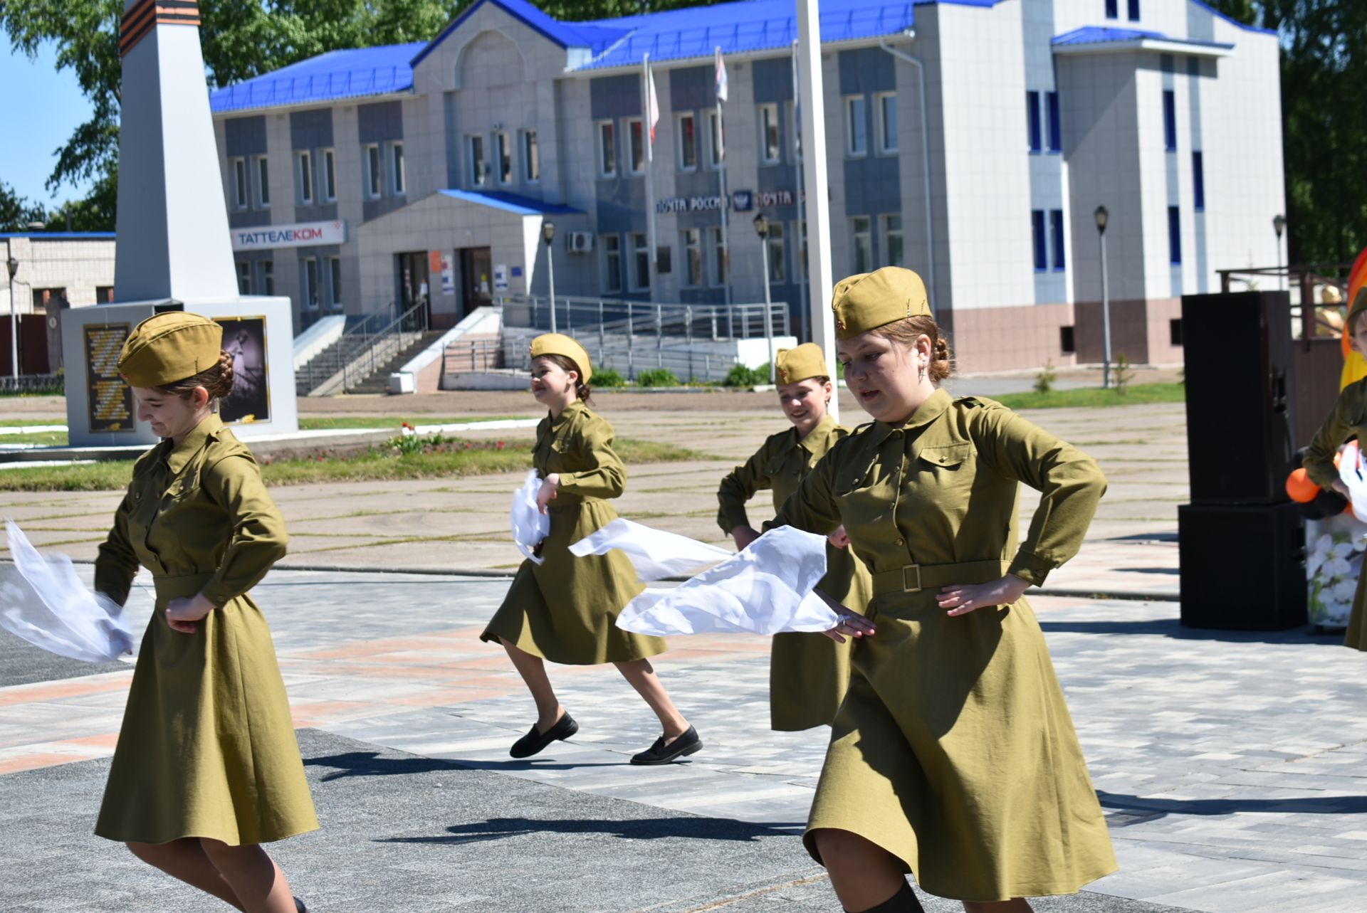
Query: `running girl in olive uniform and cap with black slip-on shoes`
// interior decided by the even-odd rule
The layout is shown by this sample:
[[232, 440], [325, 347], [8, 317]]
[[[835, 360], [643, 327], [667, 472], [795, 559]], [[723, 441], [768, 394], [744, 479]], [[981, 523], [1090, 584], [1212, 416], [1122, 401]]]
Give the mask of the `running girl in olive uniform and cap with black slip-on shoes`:
[[664, 641], [623, 631], [618, 612], [644, 588], [618, 552], [574, 558], [569, 547], [617, 519], [607, 499], [622, 493], [626, 467], [612, 451], [612, 426], [585, 400], [591, 395], [589, 355], [569, 336], [532, 340], [532, 395], [550, 409], [536, 429], [532, 459], [541, 476], [537, 506], [551, 518], [537, 564], [522, 562], [481, 640], [503, 644], [536, 701], [537, 719], [509, 749], [530, 757], [580, 726], [555, 696], [545, 662], [570, 666], [612, 663], [660, 719], [663, 734], [633, 764], [667, 764], [703, 748], [697, 731], [674, 708], [649, 656]]

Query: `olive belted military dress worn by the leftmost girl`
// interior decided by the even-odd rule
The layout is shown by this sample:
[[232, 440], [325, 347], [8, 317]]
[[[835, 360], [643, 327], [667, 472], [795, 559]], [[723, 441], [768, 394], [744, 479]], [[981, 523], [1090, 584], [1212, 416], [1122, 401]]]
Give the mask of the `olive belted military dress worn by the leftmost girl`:
[[[142, 637], [96, 834], [267, 843], [319, 827], [271, 629], [247, 590], [284, 555], [284, 521], [252, 451], [217, 415], [144, 454], [100, 545], [94, 586], [118, 603], [138, 566], [156, 611]], [[217, 605], [193, 634], [172, 599]]]

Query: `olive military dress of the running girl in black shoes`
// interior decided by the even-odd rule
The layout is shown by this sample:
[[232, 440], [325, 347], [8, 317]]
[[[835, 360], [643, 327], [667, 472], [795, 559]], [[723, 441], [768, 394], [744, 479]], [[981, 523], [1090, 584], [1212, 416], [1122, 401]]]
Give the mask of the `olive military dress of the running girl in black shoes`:
[[481, 640], [503, 638], [533, 656], [566, 666], [623, 663], [663, 653], [664, 641], [623, 631], [618, 612], [642, 589], [621, 552], [574, 558], [569, 547], [617, 519], [606, 499], [626, 487], [626, 467], [612, 451], [612, 425], [582, 402], [547, 415], [536, 428], [532, 462], [541, 478], [559, 473], [548, 504], [551, 532], [543, 564], [528, 559]]

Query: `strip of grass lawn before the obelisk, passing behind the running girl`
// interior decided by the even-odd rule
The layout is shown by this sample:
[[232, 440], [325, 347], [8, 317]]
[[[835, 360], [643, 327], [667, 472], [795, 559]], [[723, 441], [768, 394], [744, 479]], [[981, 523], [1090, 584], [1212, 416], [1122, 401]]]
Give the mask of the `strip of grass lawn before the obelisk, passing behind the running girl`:
[[[461, 447], [463, 443], [466, 441], [455, 440], [455, 450], [409, 455], [399, 455], [396, 448], [383, 447], [370, 448], [349, 458], [323, 455], [313, 459], [280, 459], [262, 463], [261, 476], [268, 485], [298, 485], [334, 481], [452, 478], [532, 467], [532, 440], [504, 440], [502, 450], [489, 447], [491, 441], [487, 440], [469, 441], [470, 450], [463, 450]], [[615, 450], [627, 466], [712, 459], [697, 451], [645, 440], [618, 440]], [[0, 492], [119, 491], [127, 487], [131, 474], [131, 461], [5, 469], [0, 470]]]

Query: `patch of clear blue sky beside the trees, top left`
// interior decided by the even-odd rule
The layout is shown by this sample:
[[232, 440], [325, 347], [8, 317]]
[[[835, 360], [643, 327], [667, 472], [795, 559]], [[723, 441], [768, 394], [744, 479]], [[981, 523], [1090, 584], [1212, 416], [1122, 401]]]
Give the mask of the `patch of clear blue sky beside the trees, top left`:
[[0, 180], [30, 201], [53, 205], [79, 200], [89, 182], [63, 185], [48, 193], [44, 186], [57, 164], [55, 150], [90, 116], [90, 103], [71, 70], [57, 71], [53, 45], [44, 45], [37, 60], [0, 42]]

